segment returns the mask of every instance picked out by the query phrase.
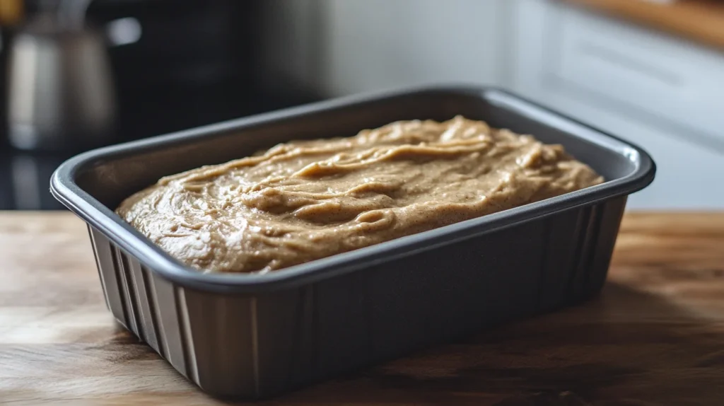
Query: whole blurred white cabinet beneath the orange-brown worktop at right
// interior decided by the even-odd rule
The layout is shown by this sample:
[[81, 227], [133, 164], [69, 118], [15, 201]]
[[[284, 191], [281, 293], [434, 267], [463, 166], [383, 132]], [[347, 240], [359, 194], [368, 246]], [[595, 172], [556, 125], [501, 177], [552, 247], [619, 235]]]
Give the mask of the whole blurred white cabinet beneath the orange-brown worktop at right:
[[557, 1], [515, 1], [518, 93], [641, 145], [630, 208], [724, 208], [724, 55]]

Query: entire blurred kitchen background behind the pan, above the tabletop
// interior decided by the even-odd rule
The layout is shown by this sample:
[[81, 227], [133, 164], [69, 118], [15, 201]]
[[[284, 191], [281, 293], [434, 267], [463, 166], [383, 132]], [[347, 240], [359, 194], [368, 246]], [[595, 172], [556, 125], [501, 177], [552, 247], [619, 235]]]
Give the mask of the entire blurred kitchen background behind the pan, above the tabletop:
[[646, 148], [629, 208], [724, 208], [724, 2], [0, 0], [0, 209], [78, 151], [322, 98], [481, 83]]

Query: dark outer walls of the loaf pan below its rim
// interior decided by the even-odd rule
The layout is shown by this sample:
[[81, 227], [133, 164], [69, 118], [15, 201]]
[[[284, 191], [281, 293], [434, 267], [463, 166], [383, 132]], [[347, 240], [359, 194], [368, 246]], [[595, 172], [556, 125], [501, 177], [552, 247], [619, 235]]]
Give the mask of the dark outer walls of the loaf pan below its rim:
[[573, 208], [259, 295], [179, 287], [89, 230], [118, 321], [206, 392], [257, 398], [591, 297], [625, 204]]

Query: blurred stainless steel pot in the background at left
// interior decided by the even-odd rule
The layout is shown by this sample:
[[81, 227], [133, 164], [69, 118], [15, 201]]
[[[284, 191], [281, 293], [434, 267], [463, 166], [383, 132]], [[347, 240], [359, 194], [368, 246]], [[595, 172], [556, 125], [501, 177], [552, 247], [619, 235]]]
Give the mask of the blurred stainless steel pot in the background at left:
[[85, 149], [112, 137], [115, 94], [104, 35], [85, 25], [90, 0], [46, 9], [9, 49], [9, 140], [25, 150]]

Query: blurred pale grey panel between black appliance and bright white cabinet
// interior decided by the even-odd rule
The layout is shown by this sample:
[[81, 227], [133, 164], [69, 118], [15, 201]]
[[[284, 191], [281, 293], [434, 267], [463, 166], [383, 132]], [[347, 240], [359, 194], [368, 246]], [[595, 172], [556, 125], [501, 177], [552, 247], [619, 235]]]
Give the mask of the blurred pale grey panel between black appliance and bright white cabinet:
[[[270, 72], [328, 96], [505, 79], [508, 0], [270, 0]], [[278, 53], [272, 53], [277, 54]]]

